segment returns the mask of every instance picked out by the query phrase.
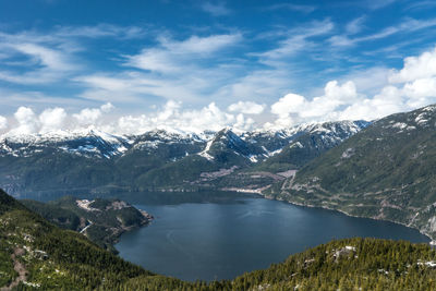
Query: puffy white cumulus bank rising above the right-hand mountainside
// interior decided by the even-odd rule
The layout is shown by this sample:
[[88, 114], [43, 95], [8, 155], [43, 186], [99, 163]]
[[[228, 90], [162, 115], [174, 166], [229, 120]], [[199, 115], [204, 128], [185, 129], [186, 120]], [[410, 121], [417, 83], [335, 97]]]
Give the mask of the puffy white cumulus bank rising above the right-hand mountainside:
[[[436, 102], [436, 49], [405, 58], [403, 68], [390, 71], [388, 77], [383, 72], [377, 75], [387, 84], [372, 96], [360, 94], [353, 81], [342, 85], [330, 81], [324, 95], [312, 99], [287, 94], [271, 105], [270, 111], [277, 119], [265, 128], [287, 128], [311, 121], [374, 120]], [[367, 88], [365, 83], [359, 81]]]

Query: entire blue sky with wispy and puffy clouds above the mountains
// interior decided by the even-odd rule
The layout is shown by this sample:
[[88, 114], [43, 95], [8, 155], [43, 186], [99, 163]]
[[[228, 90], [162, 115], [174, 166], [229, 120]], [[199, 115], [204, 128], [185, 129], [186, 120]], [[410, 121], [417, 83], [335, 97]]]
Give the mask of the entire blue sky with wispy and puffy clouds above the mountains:
[[434, 102], [433, 0], [0, 0], [0, 134], [277, 130]]

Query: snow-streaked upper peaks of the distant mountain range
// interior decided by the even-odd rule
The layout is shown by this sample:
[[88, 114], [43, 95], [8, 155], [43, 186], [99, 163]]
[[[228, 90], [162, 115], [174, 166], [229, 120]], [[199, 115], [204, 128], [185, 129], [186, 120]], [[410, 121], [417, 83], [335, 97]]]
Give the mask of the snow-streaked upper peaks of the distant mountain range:
[[101, 131], [58, 131], [47, 134], [3, 135], [0, 137], [0, 156], [31, 157], [49, 150], [69, 153], [87, 158], [117, 158], [129, 151], [155, 154], [168, 151], [168, 158], [198, 154], [214, 160], [219, 151], [231, 150], [256, 162], [265, 160], [305, 133], [318, 133], [336, 144], [365, 128], [365, 121], [341, 121], [302, 124], [279, 131], [252, 131], [235, 134], [231, 129], [217, 133], [173, 133], [164, 130], [142, 135], [122, 136]]

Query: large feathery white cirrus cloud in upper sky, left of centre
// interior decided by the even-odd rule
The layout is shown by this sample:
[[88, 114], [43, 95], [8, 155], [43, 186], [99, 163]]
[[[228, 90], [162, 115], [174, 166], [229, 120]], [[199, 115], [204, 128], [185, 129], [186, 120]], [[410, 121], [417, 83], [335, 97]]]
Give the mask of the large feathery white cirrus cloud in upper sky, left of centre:
[[[87, 87], [81, 96], [89, 99], [202, 101], [206, 93], [213, 93], [226, 80], [235, 77], [237, 72], [228, 70], [227, 60], [232, 58], [232, 48], [242, 40], [240, 33], [191, 36], [184, 40], [159, 37], [159, 45], [124, 56], [123, 71], [82, 75], [74, 80]], [[217, 56], [220, 56], [218, 60]]]

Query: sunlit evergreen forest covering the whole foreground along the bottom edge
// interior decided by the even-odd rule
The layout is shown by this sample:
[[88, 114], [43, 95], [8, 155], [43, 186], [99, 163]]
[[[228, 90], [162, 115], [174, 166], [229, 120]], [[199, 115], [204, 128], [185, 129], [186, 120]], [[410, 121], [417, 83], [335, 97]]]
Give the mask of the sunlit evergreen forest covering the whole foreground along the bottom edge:
[[62, 230], [0, 191], [0, 288], [20, 290], [435, 290], [426, 244], [347, 239], [291, 255], [234, 280], [154, 275]]

